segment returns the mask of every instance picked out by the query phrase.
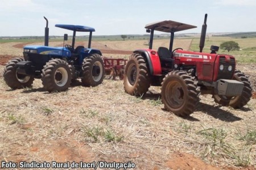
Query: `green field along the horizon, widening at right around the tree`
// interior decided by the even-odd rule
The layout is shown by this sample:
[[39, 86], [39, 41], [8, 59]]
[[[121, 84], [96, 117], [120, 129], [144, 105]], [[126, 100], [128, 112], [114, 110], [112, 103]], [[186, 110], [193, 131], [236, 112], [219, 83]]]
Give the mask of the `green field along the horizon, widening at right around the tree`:
[[[241, 36], [241, 35], [240, 35]], [[155, 35], [155, 39], [170, 39], [170, 36], [168, 35]], [[69, 36], [69, 41], [72, 40], [72, 37]], [[179, 37], [176, 36], [175, 40], [177, 39], [192, 39], [191, 48], [192, 51], [199, 51], [199, 42], [200, 37]], [[113, 36], [93, 36], [93, 41], [121, 41], [123, 40], [121, 38], [121, 35], [113, 35]], [[135, 40], [149, 40], [149, 35], [127, 35], [127, 38], [125, 41], [135, 41]], [[15, 39], [13, 37], [0, 38], [0, 43], [6, 43], [6, 42], [43, 42], [44, 37], [43, 36], [31, 36], [31, 37], [16, 37]], [[53, 41], [63, 41], [62, 36], [50, 36], [49, 42]], [[76, 41], [88, 41], [88, 36], [79, 36], [76, 38]], [[235, 36], [207, 36], [205, 39], [205, 46], [203, 52], [210, 52], [210, 45], [216, 45], [220, 46], [222, 42], [225, 41], [235, 41], [238, 42], [240, 45], [240, 50], [236, 51], [224, 51], [220, 49], [218, 53], [221, 54], [230, 54], [234, 57], [236, 57], [236, 60], [238, 63], [256, 63], [256, 37], [247, 37], [242, 38], [241, 37], [235, 37]]]

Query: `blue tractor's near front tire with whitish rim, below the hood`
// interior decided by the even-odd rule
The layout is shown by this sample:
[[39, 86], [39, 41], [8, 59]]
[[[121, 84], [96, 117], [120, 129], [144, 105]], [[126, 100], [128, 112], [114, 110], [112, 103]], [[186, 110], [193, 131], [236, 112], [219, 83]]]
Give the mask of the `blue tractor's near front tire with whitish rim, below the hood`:
[[42, 70], [42, 84], [48, 92], [65, 91], [71, 84], [72, 71], [63, 59], [51, 59]]

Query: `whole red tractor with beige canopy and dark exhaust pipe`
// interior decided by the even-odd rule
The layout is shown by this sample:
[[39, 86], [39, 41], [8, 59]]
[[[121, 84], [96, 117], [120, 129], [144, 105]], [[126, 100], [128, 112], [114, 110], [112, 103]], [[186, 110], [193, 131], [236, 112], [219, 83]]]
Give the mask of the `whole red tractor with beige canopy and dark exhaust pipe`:
[[[241, 108], [251, 97], [250, 82], [236, 70], [236, 60], [227, 54], [217, 54], [218, 46], [204, 53], [207, 29], [205, 14], [200, 39], [200, 52], [176, 48], [172, 50], [174, 32], [196, 26], [165, 20], [146, 25], [150, 33], [149, 49], [138, 49], [126, 63], [124, 87], [127, 94], [143, 95], [150, 86], [162, 86], [164, 107], [177, 116], [188, 116], [199, 103], [200, 94], [212, 94], [218, 104]], [[171, 33], [170, 47], [152, 50], [154, 31]]]

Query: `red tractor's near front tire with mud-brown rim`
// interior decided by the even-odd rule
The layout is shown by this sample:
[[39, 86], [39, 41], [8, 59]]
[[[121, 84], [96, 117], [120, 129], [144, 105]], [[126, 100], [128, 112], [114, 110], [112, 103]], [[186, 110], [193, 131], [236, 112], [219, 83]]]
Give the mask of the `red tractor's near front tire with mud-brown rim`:
[[193, 113], [199, 103], [200, 91], [193, 77], [185, 71], [171, 71], [162, 82], [162, 101], [164, 107], [176, 114], [185, 117]]

